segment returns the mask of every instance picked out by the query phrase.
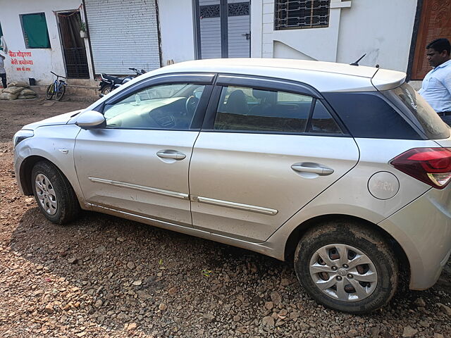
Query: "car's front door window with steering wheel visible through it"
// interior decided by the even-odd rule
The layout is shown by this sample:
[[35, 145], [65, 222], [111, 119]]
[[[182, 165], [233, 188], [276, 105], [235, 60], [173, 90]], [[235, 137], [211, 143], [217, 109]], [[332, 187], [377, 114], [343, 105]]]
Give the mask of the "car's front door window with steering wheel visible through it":
[[116, 104], [105, 105], [106, 127], [187, 130], [204, 88], [186, 83], [142, 89]]

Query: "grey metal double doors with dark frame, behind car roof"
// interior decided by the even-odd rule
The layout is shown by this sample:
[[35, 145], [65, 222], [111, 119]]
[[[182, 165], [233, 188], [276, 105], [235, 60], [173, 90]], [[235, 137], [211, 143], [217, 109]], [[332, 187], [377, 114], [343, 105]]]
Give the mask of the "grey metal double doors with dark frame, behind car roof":
[[250, 4], [196, 0], [197, 58], [250, 57]]

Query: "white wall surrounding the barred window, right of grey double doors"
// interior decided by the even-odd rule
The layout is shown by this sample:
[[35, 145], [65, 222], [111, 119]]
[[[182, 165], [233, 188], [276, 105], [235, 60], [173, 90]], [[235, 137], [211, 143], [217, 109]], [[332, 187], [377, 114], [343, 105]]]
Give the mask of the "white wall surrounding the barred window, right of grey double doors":
[[417, 0], [330, 0], [329, 27], [274, 30], [274, 0], [251, 5], [251, 56], [407, 70]]

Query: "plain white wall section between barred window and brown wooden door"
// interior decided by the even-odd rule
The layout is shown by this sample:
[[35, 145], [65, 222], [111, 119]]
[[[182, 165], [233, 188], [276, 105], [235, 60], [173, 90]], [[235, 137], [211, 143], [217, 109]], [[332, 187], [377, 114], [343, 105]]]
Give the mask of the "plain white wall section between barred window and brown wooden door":
[[416, 0], [352, 0], [342, 11], [337, 61], [407, 70]]

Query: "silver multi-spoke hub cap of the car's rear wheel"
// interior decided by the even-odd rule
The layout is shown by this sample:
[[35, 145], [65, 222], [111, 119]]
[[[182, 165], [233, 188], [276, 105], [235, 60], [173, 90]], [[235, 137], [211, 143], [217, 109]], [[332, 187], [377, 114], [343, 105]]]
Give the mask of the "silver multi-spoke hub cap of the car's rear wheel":
[[311, 256], [309, 270], [316, 287], [339, 301], [361, 301], [378, 283], [371, 259], [347, 244], [322, 246]]

